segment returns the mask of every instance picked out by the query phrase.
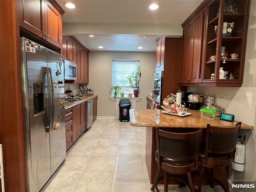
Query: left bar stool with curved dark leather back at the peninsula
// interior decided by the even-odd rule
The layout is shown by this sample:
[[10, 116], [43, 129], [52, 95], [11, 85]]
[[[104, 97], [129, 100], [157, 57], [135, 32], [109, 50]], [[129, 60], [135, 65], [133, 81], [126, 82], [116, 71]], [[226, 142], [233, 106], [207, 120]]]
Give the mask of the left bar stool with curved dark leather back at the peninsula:
[[[158, 168], [151, 190], [154, 191], [156, 188], [159, 192], [157, 184], [164, 179], [164, 192], [168, 192], [168, 178], [174, 178], [187, 185], [190, 191], [194, 192], [190, 172], [198, 167], [202, 131], [172, 133], [163, 129], [156, 128], [157, 150], [155, 156]], [[164, 177], [159, 177], [161, 170], [164, 170]], [[183, 174], [187, 175], [187, 180], [182, 178]]]

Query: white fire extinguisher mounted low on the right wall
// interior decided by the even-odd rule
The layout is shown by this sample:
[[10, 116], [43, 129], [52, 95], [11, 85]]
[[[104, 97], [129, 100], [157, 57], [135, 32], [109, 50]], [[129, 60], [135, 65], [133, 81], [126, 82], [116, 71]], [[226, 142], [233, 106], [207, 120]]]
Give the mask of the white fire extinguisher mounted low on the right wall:
[[237, 171], [244, 171], [244, 159], [245, 159], [245, 144], [241, 138], [238, 138], [236, 143], [235, 158], [232, 162], [232, 168]]

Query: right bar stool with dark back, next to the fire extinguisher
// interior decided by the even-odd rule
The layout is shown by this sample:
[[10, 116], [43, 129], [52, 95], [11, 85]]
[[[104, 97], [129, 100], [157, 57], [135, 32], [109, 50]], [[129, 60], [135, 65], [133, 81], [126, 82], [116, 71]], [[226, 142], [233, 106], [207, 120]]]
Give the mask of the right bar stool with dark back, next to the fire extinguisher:
[[[201, 168], [198, 192], [202, 190], [203, 178], [211, 181], [212, 188], [215, 181], [222, 186], [225, 192], [229, 192], [226, 166], [230, 166], [232, 163], [233, 156], [231, 153], [236, 148], [240, 127], [241, 122], [238, 122], [232, 128], [216, 127], [207, 124], [206, 146], [205, 148], [200, 148], [199, 152], [199, 165]], [[210, 176], [204, 174], [204, 168], [210, 168]], [[221, 170], [223, 182], [213, 177], [212, 172], [215, 169]]]

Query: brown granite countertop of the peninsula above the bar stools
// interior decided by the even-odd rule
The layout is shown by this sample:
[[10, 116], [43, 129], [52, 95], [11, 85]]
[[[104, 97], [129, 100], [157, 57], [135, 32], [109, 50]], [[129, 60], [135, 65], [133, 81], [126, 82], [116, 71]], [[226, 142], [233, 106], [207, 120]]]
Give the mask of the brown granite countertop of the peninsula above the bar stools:
[[[228, 122], [215, 117], [214, 120], [201, 118], [198, 110], [187, 110], [191, 113], [187, 116], [173, 116], [162, 113], [164, 110], [156, 109], [130, 109], [130, 124], [132, 126], [144, 127], [182, 127], [182, 128], [206, 128], [207, 124], [212, 126], [230, 127], [236, 122]], [[250, 126], [242, 123], [241, 129], [250, 129]]]

